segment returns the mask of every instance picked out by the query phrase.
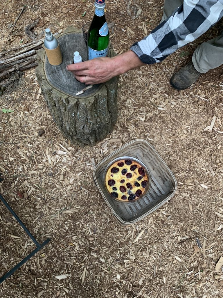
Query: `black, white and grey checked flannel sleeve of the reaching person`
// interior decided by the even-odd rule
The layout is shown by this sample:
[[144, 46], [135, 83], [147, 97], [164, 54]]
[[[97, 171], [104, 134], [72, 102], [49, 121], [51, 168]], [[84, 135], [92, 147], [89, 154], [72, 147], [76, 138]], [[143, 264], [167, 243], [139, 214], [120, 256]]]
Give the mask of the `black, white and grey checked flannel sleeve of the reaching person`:
[[184, 0], [169, 18], [130, 49], [143, 63], [160, 62], [180, 47], [194, 41], [222, 16], [223, 0]]

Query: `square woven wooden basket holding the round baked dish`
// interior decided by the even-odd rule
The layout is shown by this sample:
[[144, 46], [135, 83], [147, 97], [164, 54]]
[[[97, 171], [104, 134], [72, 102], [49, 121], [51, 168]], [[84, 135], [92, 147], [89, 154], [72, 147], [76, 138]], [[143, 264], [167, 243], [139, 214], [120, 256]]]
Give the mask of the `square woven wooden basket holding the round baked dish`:
[[[119, 204], [106, 191], [103, 173], [109, 162], [120, 156], [135, 157], [149, 170], [151, 186], [144, 197], [136, 202]], [[94, 181], [112, 213], [124, 226], [134, 224], [153, 213], [174, 195], [177, 181], [164, 160], [147, 141], [137, 139], [115, 150], [95, 167]]]

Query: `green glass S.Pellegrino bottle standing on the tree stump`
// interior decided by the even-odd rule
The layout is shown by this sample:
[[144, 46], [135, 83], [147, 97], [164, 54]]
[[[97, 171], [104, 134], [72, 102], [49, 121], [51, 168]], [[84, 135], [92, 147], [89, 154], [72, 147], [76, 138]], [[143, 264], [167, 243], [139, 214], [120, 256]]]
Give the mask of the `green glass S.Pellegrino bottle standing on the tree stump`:
[[87, 34], [88, 60], [108, 55], [109, 28], [104, 8], [105, 0], [95, 0], [95, 15]]

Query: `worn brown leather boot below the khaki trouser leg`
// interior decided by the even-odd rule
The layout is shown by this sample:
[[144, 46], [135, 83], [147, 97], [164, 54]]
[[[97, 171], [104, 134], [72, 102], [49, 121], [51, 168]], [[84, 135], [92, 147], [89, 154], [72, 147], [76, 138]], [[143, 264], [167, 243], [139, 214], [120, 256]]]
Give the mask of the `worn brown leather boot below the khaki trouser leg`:
[[170, 84], [178, 90], [183, 90], [190, 87], [200, 77], [201, 72], [195, 69], [192, 60], [183, 66], [170, 79]]

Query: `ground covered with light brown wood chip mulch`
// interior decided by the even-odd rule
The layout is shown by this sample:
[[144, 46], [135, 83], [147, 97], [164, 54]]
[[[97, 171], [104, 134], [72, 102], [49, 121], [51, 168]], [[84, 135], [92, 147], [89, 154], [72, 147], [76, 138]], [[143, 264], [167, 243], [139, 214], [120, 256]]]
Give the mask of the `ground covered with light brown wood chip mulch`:
[[[161, 19], [163, 1], [137, 3], [142, 12], [134, 19], [126, 11], [128, 1], [107, 1], [117, 53]], [[93, 1], [87, 0], [3, 1], [0, 51], [31, 42], [24, 26], [37, 18], [34, 34], [49, 24], [53, 32], [63, 32], [70, 25], [82, 28], [93, 11]], [[0, 97], [1, 195], [39, 242], [52, 240], [0, 285], [0, 297], [222, 297], [222, 66], [185, 91], [169, 84], [194, 49], [221, 31], [217, 24], [162, 63], [120, 76], [117, 124], [93, 147], [80, 148], [59, 132], [38, 94], [34, 68], [5, 90]], [[13, 112], [5, 114], [4, 108]], [[133, 139], [146, 139], [156, 148], [178, 189], [153, 215], [121, 226], [95, 187], [93, 163]], [[34, 245], [2, 203], [0, 222], [3, 275]]]

